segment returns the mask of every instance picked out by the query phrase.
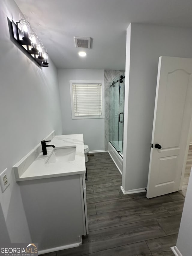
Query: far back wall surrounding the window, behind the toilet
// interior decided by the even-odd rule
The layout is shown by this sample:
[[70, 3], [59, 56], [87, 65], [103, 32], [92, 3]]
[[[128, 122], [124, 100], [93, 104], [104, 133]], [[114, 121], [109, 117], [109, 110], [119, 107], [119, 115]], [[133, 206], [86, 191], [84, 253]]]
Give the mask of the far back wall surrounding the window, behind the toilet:
[[104, 150], [104, 118], [72, 119], [69, 80], [104, 80], [104, 70], [58, 69], [63, 134], [83, 133], [90, 150]]

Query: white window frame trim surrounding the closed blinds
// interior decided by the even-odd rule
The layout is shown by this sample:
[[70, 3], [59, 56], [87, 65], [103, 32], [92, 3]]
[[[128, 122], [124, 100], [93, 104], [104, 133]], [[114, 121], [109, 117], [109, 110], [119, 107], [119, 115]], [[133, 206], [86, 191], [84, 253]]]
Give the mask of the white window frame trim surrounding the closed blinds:
[[[84, 84], [96, 84], [101, 83], [101, 115], [100, 116], [75, 116], [74, 112], [74, 102], [73, 102], [73, 83], [84, 83]], [[104, 101], [104, 81], [103, 80], [69, 80], [70, 86], [70, 98], [71, 98], [71, 116], [72, 119], [97, 119], [97, 118], [104, 118], [105, 115], [105, 101]]]

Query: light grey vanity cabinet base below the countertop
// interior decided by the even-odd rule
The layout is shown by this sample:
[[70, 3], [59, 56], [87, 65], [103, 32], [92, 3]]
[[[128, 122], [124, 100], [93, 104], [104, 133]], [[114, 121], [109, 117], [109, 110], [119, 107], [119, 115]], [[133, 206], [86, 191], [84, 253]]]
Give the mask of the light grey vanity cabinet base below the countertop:
[[32, 242], [39, 253], [81, 245], [88, 233], [85, 174], [19, 182]]

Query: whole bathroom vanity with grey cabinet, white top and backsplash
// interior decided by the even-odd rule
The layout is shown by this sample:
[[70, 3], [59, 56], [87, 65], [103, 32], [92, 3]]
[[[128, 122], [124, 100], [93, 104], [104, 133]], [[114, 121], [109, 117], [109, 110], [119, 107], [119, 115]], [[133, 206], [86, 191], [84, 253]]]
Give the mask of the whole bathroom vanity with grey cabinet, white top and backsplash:
[[88, 234], [83, 134], [51, 136], [47, 155], [38, 145], [13, 167], [39, 254], [79, 246]]

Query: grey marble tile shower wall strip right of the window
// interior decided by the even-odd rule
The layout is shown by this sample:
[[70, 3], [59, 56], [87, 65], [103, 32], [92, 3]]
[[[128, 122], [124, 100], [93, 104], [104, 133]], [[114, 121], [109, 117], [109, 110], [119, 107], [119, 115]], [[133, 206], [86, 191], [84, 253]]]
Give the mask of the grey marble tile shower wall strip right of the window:
[[117, 75], [123, 74], [125, 70], [104, 70], [105, 80], [105, 150], [108, 150], [110, 141], [110, 82]]

